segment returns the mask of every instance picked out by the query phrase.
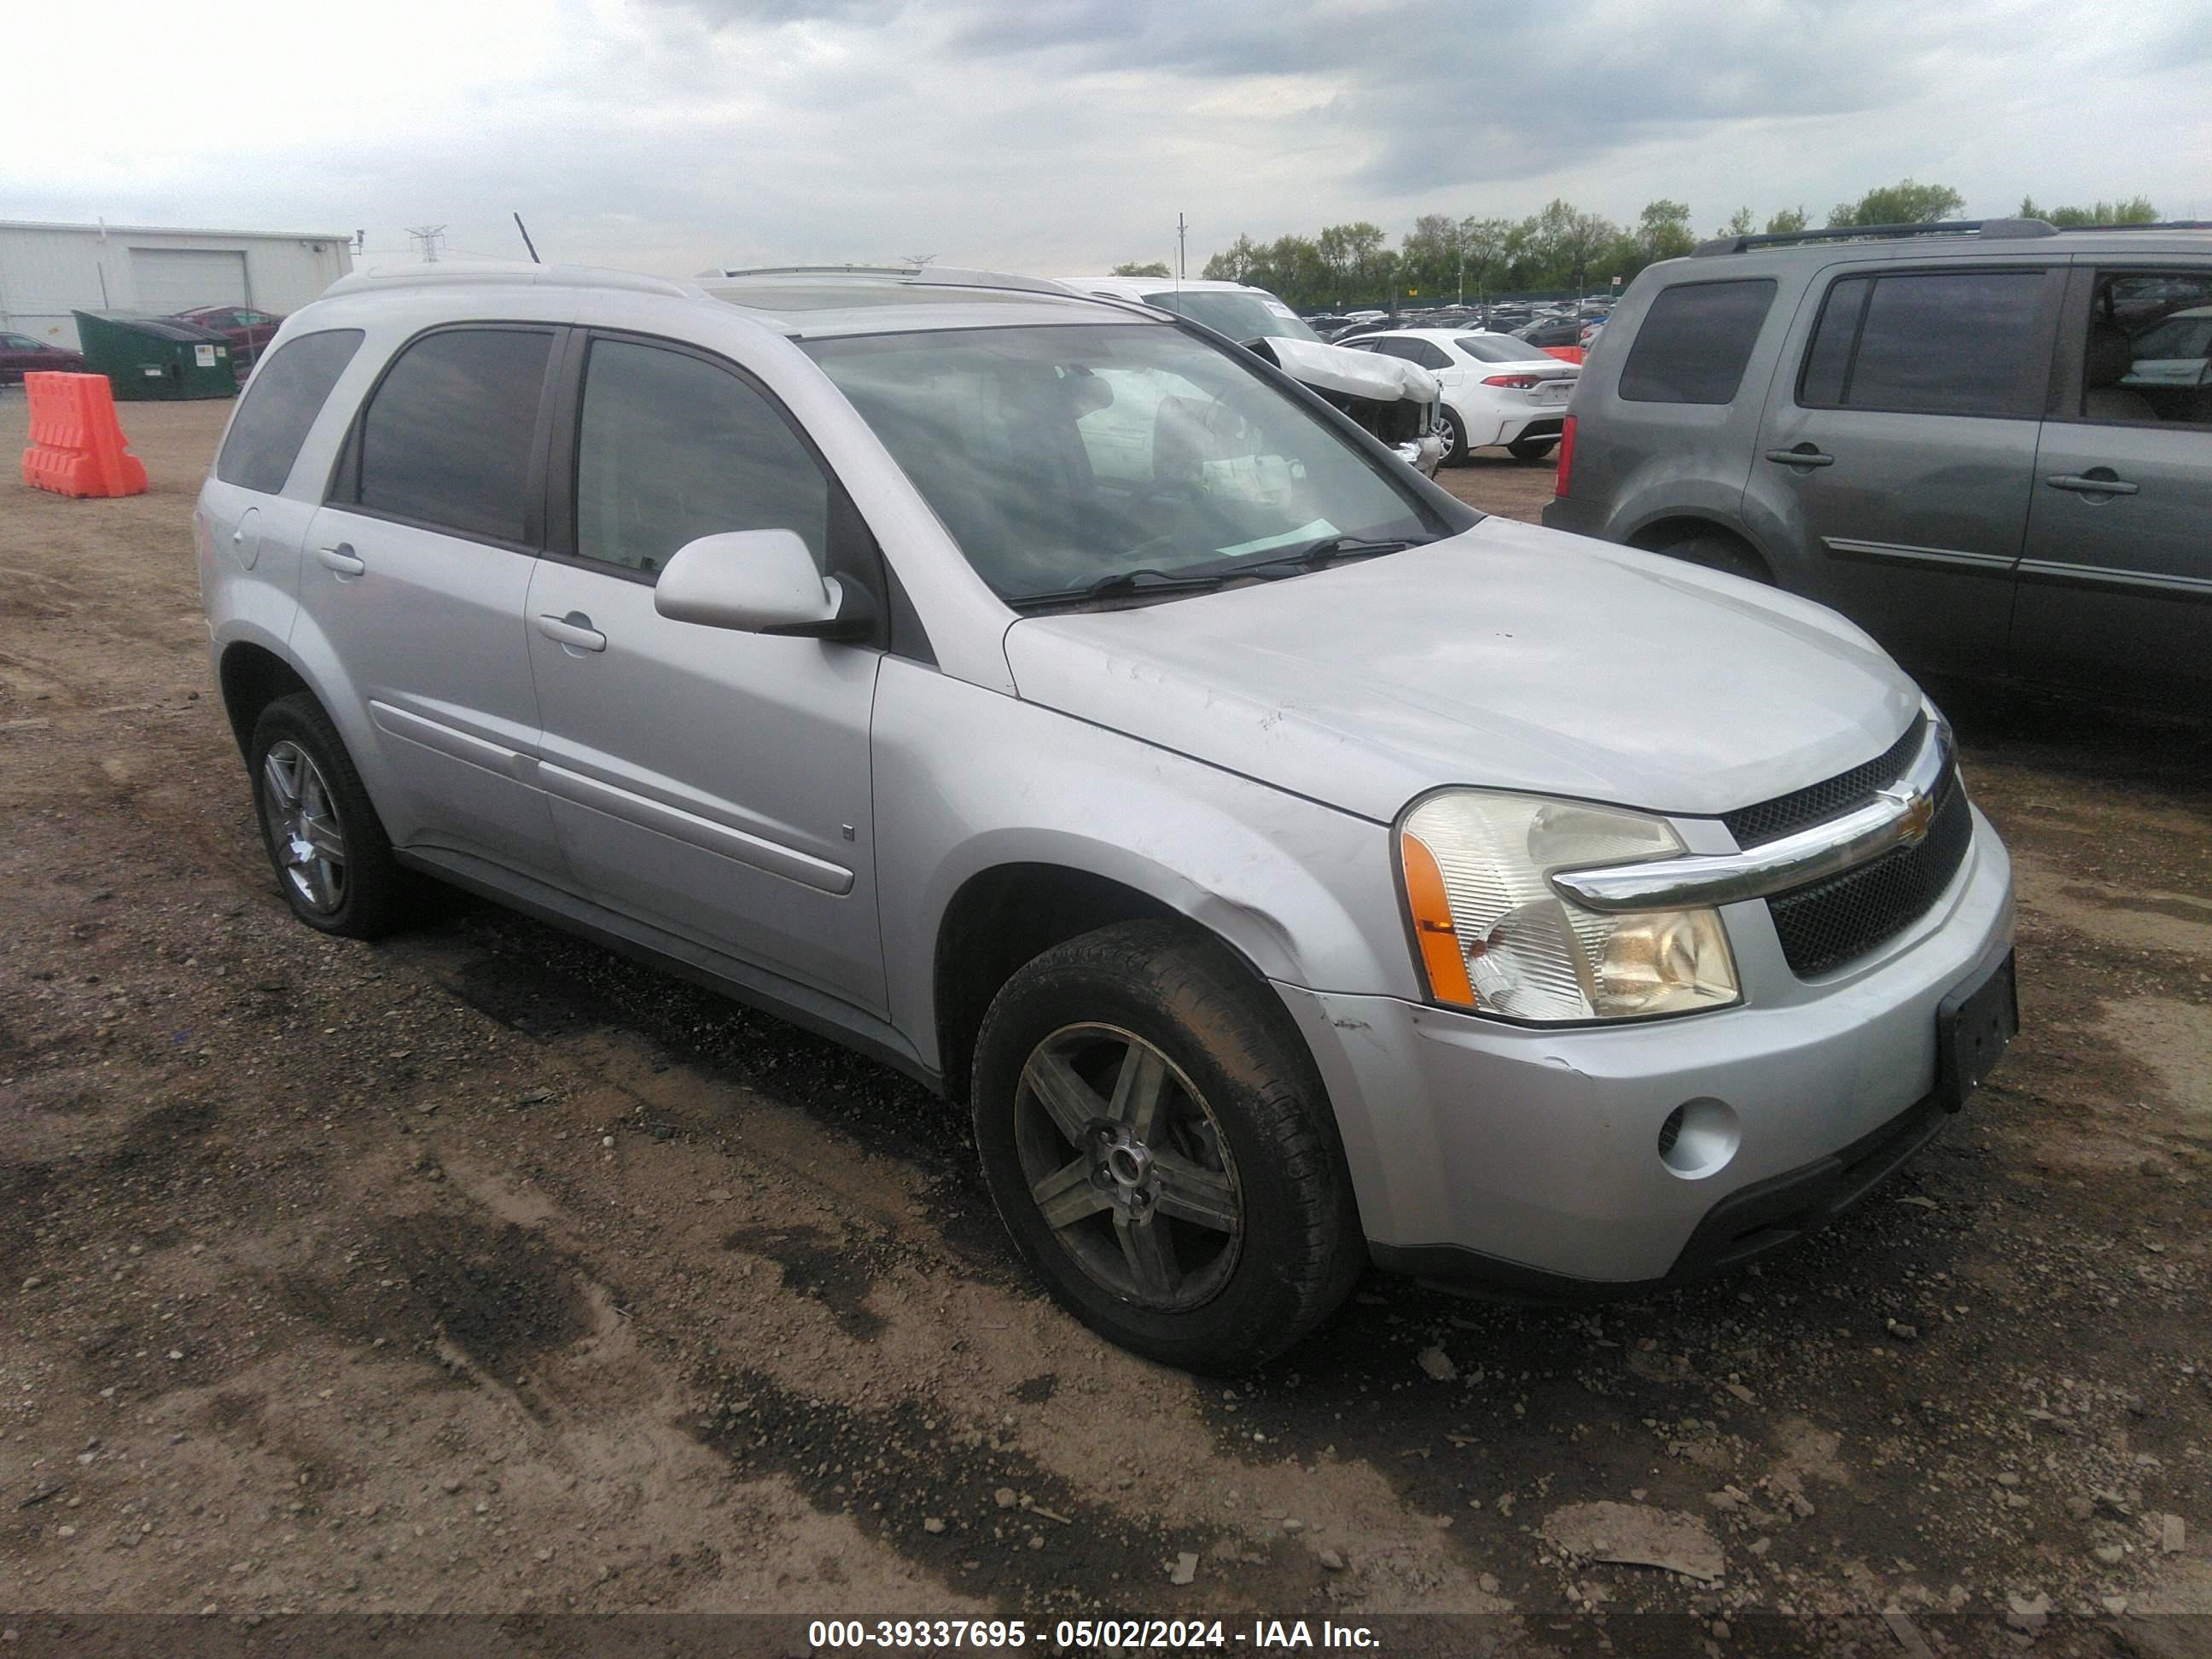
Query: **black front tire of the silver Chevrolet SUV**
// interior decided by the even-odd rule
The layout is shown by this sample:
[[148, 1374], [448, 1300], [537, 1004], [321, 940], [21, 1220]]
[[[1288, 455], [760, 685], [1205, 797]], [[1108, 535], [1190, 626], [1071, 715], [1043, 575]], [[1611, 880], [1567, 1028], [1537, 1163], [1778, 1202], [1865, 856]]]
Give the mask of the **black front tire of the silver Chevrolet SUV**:
[[[1099, 1203], [1095, 1214], [1055, 1230], [1033, 1190], [1037, 1168], [1062, 1168], [1066, 1157], [1062, 1175], [1073, 1172], [1095, 1146], [1060, 1137], [1040, 1161], [1037, 1121], [1051, 1113], [1031, 1064], [1073, 1055], [1073, 1073], [1091, 1042], [1126, 1064], [1139, 1048], [1121, 1048], [1124, 1040], [1170, 1068], [1146, 1130], [1150, 1157], [1161, 1170], [1170, 1155], [1181, 1159], [1172, 1168], [1203, 1164], [1199, 1175], [1230, 1188], [1241, 1221], [1237, 1232], [1217, 1232], [1175, 1219], [1177, 1199], [1150, 1201], [1168, 1206], [1150, 1210], [1150, 1221], [1168, 1230], [1166, 1261], [1181, 1281], [1177, 1294], [1194, 1298], [1188, 1305], [1146, 1305], [1141, 1287], [1108, 1283], [1124, 1256], [1137, 1279], [1124, 1228], [1141, 1225], [1148, 1203], [1141, 1186], [1115, 1186], [1108, 1155], [1097, 1155], [1091, 1181], [1062, 1188]], [[1113, 1113], [1119, 1075], [1119, 1064], [1097, 1071], [1102, 1093], [1084, 1099]], [[1208, 1374], [1252, 1369], [1327, 1318], [1365, 1265], [1336, 1121], [1296, 1026], [1228, 949], [1183, 922], [1104, 927], [1015, 973], [975, 1042], [973, 1113], [984, 1179], [1015, 1248], [1071, 1314], [1146, 1358]], [[1110, 1121], [1099, 1130], [1110, 1133]]]

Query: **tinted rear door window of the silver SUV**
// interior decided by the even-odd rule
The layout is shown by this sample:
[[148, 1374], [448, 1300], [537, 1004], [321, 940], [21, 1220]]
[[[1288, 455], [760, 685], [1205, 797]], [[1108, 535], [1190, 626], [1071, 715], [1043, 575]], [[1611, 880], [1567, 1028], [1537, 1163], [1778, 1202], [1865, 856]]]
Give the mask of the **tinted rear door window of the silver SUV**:
[[502, 327], [429, 334], [400, 352], [361, 420], [356, 500], [520, 542], [551, 349], [551, 332]]

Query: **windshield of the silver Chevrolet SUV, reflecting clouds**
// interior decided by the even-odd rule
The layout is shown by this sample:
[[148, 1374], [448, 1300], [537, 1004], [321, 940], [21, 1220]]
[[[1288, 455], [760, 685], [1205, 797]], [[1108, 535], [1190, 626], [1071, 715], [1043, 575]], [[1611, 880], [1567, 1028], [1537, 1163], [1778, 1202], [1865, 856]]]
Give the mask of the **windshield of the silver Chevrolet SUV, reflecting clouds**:
[[1429, 540], [1394, 462], [1243, 352], [1157, 323], [805, 341], [1009, 604], [1234, 573], [1332, 535]]

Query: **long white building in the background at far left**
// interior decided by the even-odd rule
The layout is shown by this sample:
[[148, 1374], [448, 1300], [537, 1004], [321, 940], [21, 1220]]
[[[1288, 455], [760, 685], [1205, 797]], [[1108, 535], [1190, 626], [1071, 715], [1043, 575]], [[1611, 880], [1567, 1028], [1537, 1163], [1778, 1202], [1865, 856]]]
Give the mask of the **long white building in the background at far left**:
[[341, 232], [0, 219], [0, 327], [75, 349], [71, 312], [294, 312], [354, 268]]

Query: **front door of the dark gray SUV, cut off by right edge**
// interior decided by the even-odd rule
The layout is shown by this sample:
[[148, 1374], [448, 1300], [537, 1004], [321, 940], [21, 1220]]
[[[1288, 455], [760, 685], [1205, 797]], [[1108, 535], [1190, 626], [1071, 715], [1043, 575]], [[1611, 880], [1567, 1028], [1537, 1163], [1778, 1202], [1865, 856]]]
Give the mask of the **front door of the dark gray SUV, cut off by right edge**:
[[2075, 270], [2013, 672], [2212, 708], [2212, 265]]

